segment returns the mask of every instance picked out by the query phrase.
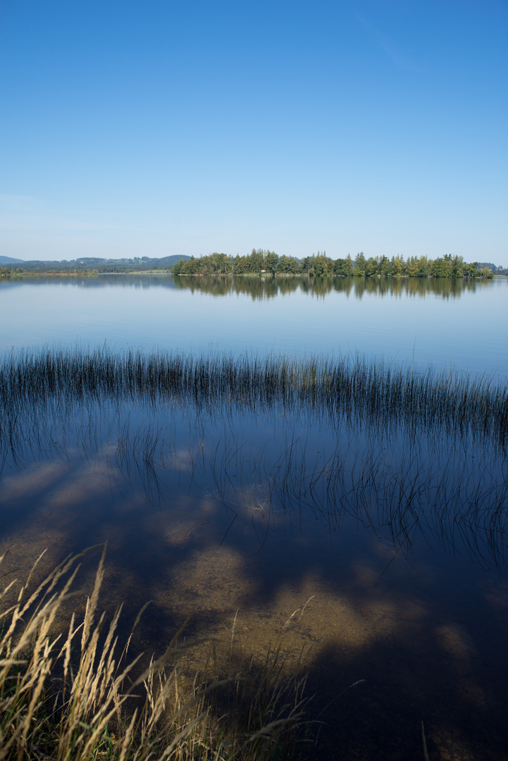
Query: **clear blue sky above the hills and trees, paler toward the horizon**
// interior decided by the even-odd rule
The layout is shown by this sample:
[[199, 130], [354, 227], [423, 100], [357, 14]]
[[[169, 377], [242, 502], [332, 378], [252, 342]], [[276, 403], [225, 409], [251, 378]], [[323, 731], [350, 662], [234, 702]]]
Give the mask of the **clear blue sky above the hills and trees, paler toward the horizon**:
[[506, 0], [0, 0], [0, 254], [508, 266]]

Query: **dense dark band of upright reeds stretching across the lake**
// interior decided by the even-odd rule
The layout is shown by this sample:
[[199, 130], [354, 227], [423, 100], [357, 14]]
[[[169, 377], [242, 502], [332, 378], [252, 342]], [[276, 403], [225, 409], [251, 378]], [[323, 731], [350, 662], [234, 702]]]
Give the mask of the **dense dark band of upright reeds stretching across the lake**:
[[0, 365], [3, 436], [34, 406], [109, 400], [193, 403], [208, 409], [319, 409], [383, 428], [441, 429], [506, 445], [508, 388], [493, 377], [417, 371], [383, 360], [287, 358], [107, 348], [13, 352]]

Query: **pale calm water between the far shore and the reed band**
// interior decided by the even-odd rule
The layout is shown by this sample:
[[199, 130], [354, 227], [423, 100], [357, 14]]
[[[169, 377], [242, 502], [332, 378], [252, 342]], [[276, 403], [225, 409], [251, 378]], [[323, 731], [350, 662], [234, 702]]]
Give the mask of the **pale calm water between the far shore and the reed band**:
[[0, 351], [102, 344], [321, 352], [508, 377], [508, 279], [101, 275], [0, 282]]

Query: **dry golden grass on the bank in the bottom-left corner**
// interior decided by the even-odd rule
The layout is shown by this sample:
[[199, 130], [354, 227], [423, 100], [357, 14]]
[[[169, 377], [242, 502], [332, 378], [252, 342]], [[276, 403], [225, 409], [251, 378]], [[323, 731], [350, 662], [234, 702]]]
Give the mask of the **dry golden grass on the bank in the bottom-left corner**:
[[117, 637], [121, 607], [109, 623], [98, 613], [104, 552], [83, 619], [73, 613], [65, 633], [53, 635], [57, 616], [80, 594], [74, 587], [85, 552], [37, 583], [40, 556], [24, 583], [11, 581], [0, 594], [0, 761], [297, 755], [305, 680], [283, 676], [280, 648], [261, 670], [251, 659], [233, 677], [212, 681], [183, 675], [189, 645], [179, 645], [181, 632], [147, 667], [141, 655], [129, 661], [132, 635], [123, 648]]

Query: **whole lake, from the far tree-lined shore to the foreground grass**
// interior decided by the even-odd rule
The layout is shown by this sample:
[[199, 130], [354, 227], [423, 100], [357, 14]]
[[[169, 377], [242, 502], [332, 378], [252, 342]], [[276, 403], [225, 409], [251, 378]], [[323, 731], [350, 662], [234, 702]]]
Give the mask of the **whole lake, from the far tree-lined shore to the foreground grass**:
[[[154, 600], [135, 652], [190, 616], [236, 658], [301, 654], [325, 722], [310, 757], [423, 757], [424, 721], [430, 758], [507, 758], [507, 296], [505, 279], [0, 281], [2, 359], [68, 352], [81, 373], [68, 391], [34, 374], [4, 405], [0, 549], [20, 568], [107, 541], [106, 607]], [[156, 359], [134, 377], [138, 350], [186, 380], [168, 391]], [[117, 380], [83, 374], [90, 355]], [[395, 398], [397, 372], [421, 395]]]

